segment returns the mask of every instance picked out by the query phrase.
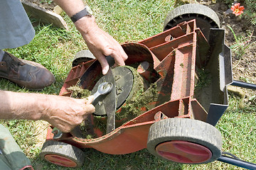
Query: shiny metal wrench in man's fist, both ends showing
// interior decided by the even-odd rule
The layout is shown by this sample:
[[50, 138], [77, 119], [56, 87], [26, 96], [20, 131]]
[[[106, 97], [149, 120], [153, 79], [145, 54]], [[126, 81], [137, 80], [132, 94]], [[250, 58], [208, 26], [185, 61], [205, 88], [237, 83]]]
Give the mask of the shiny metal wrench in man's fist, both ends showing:
[[[112, 90], [112, 83], [107, 83], [107, 82], [103, 82], [98, 86], [97, 91], [95, 92], [95, 94], [92, 94], [93, 96], [93, 101], [92, 103], [95, 101], [96, 98], [98, 98], [100, 95], [105, 95], [110, 93], [110, 91]], [[58, 130], [58, 128], [53, 128], [52, 133], [54, 134], [53, 139], [59, 139], [60, 137], [63, 136], [63, 132], [61, 132], [60, 130]]]

